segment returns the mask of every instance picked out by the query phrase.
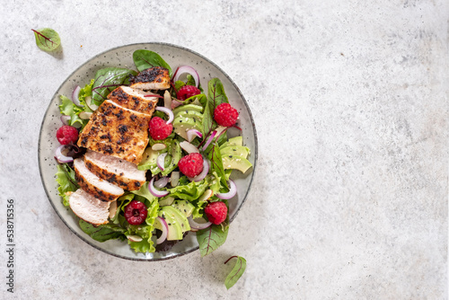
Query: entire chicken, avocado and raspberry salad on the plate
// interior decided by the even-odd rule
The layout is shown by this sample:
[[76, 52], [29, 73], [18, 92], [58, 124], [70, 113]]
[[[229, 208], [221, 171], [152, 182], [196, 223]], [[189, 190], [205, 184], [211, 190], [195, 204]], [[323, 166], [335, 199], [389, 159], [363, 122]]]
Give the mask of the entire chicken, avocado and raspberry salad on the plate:
[[133, 60], [136, 70], [101, 68], [60, 96], [59, 196], [95, 241], [149, 253], [193, 232], [207, 255], [225, 243], [231, 173], [251, 172], [242, 136], [228, 137], [239, 112], [219, 78], [203, 87], [193, 67], [146, 49]]

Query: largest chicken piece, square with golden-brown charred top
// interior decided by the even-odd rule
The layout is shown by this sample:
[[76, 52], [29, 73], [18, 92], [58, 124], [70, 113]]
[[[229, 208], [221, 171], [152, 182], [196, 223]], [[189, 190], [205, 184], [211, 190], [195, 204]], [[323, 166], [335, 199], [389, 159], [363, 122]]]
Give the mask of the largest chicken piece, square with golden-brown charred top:
[[148, 114], [103, 101], [84, 127], [78, 146], [138, 164], [148, 144], [150, 119]]

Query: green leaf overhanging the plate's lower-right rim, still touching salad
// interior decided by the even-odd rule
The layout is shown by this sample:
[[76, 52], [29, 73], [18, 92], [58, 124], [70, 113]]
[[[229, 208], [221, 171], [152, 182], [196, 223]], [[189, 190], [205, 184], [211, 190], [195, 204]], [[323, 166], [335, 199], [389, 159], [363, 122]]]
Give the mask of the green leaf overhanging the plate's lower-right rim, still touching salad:
[[211, 225], [206, 229], [198, 230], [197, 241], [201, 257], [210, 254], [224, 244], [226, 242], [228, 230], [229, 227], [225, 227], [225, 230], [222, 230], [222, 226], [220, 225]]

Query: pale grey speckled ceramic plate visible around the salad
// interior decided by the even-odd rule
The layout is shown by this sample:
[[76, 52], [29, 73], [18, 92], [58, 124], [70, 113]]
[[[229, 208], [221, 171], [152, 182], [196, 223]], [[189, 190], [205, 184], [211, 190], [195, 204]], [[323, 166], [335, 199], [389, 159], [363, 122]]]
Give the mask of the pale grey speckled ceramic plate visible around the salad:
[[[248, 107], [248, 103], [243, 98], [243, 95], [238, 87], [233, 84], [231, 78], [229, 78], [229, 76], [226, 75], [225, 72], [223, 72], [218, 66], [198, 53], [170, 44], [142, 43], [110, 49], [97, 55], [96, 57], [92, 57], [92, 59], [78, 67], [72, 75], [68, 76], [51, 99], [40, 128], [40, 176], [48, 199], [51, 205], [55, 208], [57, 215], [60, 216], [63, 222], [84, 242], [89, 243], [101, 251], [123, 259], [146, 261], [168, 260], [197, 250], [198, 243], [196, 235], [194, 233], [189, 233], [182, 242], [177, 243], [170, 251], [147, 254], [136, 253], [129, 248], [128, 243], [118, 240], [111, 240], [105, 243], [96, 242], [92, 240], [89, 235], [84, 234], [78, 225], [78, 218], [72, 213], [70, 208], [62, 205], [61, 198], [58, 196], [57, 192], [57, 182], [55, 181], [57, 163], [54, 159], [54, 152], [59, 145], [56, 138], [56, 131], [57, 128], [62, 126], [59, 119], [60, 114], [58, 110], [58, 104], [60, 103], [59, 95], [66, 95], [70, 97], [76, 85], [84, 86], [85, 84], [88, 84], [94, 77], [97, 70], [103, 67], [119, 66], [136, 69], [132, 59], [132, 54], [137, 49], [149, 49], [157, 52], [170, 66], [172, 66], [172, 69], [175, 69], [180, 65], [195, 67], [198, 71], [200, 82], [203, 87], [207, 88], [207, 82], [213, 77], [218, 77], [224, 84], [225, 93], [230, 103], [233, 107], [239, 110], [240, 118], [238, 125], [242, 128], [242, 132], [235, 128], [233, 128], [233, 130], [229, 130], [229, 136], [243, 136], [243, 144], [251, 148], [249, 160], [253, 164], [252, 170], [248, 171], [245, 175], [242, 175], [242, 173], [238, 171], [233, 172], [232, 178], [237, 184], [238, 192], [237, 196], [229, 201], [231, 221], [237, 215], [237, 212], [240, 207], [242, 207], [242, 204], [250, 191], [258, 153], [256, 128], [254, 125], [254, 120], [251, 116], [250, 108]], [[225, 247], [225, 245], [222, 247]]]

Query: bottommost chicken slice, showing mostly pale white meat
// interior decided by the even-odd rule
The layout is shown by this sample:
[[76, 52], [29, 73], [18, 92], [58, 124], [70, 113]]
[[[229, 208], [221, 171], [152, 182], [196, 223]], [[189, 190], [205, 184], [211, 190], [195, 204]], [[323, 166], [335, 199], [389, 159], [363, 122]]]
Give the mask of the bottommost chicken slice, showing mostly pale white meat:
[[108, 223], [110, 202], [96, 199], [87, 191], [78, 189], [68, 198], [70, 208], [84, 221], [93, 225]]

